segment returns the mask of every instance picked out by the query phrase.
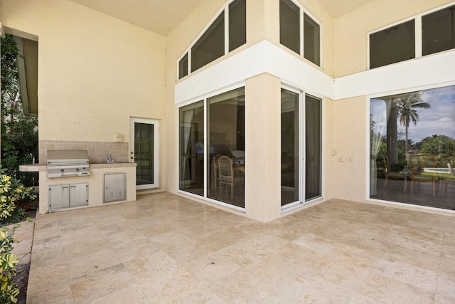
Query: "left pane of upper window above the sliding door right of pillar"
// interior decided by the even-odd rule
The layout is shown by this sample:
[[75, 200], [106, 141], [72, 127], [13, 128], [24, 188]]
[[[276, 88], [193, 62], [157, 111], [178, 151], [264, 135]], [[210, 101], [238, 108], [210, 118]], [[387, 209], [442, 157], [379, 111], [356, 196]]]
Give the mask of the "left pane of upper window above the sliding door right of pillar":
[[279, 43], [300, 54], [300, 9], [291, 0], [279, 1]]

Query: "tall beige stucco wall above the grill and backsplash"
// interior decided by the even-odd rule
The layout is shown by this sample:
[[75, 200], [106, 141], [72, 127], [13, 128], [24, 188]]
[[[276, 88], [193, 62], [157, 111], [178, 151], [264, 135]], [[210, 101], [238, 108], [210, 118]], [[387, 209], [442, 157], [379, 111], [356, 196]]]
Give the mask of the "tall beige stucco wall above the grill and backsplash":
[[40, 140], [129, 141], [164, 117], [166, 38], [68, 0], [2, 0], [11, 33], [38, 36]]

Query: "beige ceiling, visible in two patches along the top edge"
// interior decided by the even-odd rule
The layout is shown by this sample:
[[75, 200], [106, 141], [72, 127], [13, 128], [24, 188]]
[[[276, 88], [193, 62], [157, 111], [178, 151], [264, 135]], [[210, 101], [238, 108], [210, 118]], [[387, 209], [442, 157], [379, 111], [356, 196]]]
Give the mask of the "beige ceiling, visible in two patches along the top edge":
[[[167, 36], [204, 1], [210, 0], [72, 0], [90, 9]], [[373, 0], [317, 0], [333, 17]]]

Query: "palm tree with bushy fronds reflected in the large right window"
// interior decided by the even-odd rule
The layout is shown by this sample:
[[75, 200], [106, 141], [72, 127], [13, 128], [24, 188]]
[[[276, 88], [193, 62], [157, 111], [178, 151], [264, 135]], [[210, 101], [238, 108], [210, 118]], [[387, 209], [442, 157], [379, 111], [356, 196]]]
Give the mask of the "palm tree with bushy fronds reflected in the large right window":
[[414, 92], [411, 95], [398, 98], [397, 100], [397, 109], [398, 109], [398, 121], [400, 125], [405, 127], [405, 153], [409, 153], [409, 138], [408, 130], [410, 123], [417, 125], [419, 121], [419, 113], [417, 109], [429, 109], [431, 105], [424, 102], [420, 98], [420, 92]]

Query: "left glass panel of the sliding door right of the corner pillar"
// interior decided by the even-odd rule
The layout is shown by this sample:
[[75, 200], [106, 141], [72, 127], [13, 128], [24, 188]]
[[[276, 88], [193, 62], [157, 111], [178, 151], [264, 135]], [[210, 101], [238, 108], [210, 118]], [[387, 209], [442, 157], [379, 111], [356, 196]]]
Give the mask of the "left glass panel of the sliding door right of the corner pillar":
[[299, 94], [282, 89], [282, 206], [299, 201]]

